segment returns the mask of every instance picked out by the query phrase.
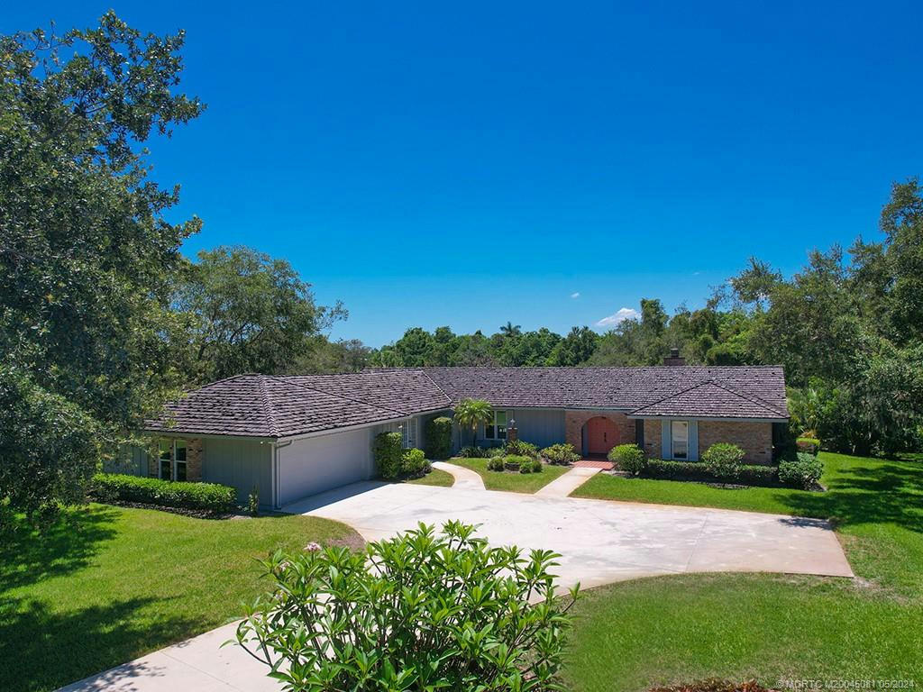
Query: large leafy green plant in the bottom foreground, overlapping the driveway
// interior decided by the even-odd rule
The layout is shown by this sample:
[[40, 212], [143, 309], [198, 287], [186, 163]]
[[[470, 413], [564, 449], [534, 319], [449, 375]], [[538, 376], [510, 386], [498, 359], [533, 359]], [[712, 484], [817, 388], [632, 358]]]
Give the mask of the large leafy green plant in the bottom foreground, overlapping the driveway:
[[573, 600], [554, 595], [558, 555], [473, 531], [421, 524], [366, 554], [277, 552], [264, 563], [275, 588], [237, 643], [289, 690], [561, 689]]

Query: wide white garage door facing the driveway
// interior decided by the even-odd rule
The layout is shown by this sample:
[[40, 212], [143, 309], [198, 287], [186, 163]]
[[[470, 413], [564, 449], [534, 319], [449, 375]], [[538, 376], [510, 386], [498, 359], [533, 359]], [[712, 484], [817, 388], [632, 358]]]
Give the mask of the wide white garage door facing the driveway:
[[365, 481], [372, 471], [371, 429], [297, 440], [279, 448], [279, 502]]

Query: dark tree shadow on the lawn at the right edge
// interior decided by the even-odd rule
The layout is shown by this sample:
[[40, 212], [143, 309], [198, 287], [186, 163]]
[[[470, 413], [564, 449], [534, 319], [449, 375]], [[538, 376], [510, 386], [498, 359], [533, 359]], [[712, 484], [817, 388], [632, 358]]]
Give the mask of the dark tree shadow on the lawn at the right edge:
[[826, 493], [780, 493], [776, 499], [804, 517], [835, 525], [892, 523], [923, 533], [923, 465], [893, 459], [842, 470]]

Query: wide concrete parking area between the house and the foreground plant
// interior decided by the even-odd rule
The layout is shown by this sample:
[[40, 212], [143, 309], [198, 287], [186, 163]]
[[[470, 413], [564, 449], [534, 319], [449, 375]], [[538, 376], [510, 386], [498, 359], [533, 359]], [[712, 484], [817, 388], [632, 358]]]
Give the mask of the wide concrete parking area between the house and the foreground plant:
[[852, 577], [826, 521], [705, 507], [641, 505], [407, 483], [354, 483], [284, 507], [336, 519], [374, 541], [448, 519], [497, 545], [560, 553], [561, 586], [681, 572]]

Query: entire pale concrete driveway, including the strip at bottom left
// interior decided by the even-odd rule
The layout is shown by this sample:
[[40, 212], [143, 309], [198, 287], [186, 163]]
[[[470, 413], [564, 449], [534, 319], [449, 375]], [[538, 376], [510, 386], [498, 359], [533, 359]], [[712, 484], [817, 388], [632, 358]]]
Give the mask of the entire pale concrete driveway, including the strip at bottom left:
[[[457, 468], [457, 467], [456, 467]], [[563, 478], [563, 476], [562, 476]], [[791, 572], [852, 577], [825, 521], [725, 509], [485, 491], [474, 479], [451, 488], [355, 483], [296, 502], [286, 511], [337, 519], [367, 540], [420, 521], [480, 524], [491, 543], [548, 548], [562, 555], [561, 586], [681, 572]], [[271, 692], [267, 668], [237, 647], [234, 624], [93, 675], [66, 692]]]

